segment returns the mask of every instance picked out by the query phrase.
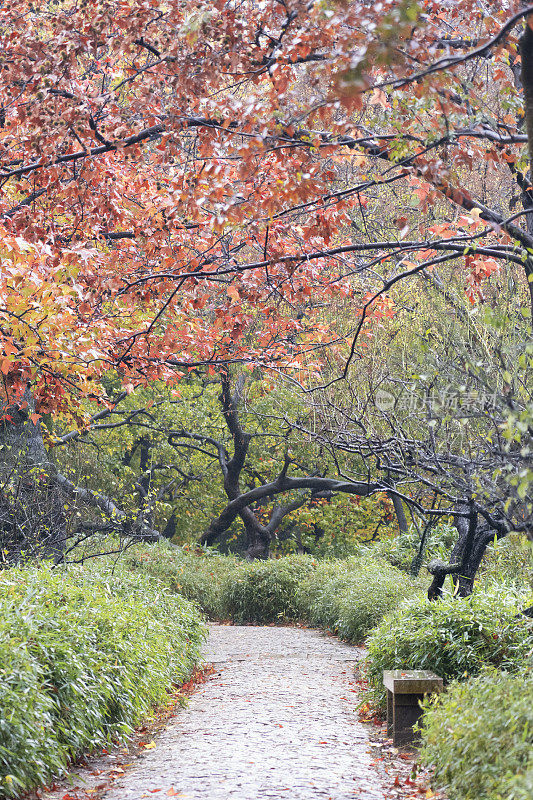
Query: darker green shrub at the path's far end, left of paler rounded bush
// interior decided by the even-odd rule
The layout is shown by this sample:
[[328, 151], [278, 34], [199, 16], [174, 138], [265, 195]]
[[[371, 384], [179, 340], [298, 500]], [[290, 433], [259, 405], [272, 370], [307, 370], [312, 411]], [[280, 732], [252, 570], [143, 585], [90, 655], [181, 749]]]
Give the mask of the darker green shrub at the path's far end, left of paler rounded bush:
[[298, 619], [296, 591], [316, 568], [310, 556], [285, 556], [243, 564], [226, 585], [225, 606], [237, 622]]

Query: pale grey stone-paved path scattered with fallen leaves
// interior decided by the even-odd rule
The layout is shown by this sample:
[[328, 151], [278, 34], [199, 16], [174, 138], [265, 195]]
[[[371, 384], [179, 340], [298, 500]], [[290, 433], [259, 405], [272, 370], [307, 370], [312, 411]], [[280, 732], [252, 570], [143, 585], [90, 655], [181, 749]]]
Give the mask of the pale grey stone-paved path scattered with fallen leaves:
[[105, 800], [384, 800], [356, 713], [360, 656], [314, 630], [211, 625], [213, 677]]

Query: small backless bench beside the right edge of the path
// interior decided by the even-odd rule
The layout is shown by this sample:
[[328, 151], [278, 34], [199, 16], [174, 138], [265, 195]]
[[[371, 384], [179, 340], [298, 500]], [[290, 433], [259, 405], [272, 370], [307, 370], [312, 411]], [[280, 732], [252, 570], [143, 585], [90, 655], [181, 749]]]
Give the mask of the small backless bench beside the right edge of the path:
[[384, 670], [387, 690], [387, 732], [396, 747], [416, 741], [414, 724], [422, 716], [420, 701], [426, 694], [442, 691], [442, 678], [424, 669]]

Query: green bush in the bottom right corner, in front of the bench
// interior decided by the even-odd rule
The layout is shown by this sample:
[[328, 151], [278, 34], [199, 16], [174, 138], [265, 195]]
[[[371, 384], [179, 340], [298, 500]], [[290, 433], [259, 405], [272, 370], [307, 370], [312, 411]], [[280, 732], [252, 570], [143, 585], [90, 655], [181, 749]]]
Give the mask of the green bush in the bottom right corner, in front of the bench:
[[487, 671], [426, 702], [422, 759], [450, 800], [533, 797], [533, 676]]

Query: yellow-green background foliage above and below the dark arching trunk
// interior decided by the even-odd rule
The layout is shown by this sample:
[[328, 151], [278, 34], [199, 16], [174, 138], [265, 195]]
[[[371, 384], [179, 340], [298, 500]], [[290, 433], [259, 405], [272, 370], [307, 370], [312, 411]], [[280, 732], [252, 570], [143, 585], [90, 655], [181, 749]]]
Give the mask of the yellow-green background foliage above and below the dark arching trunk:
[[[110, 393], [119, 391], [120, 383], [113, 372], [106, 375], [106, 384]], [[192, 375], [180, 382], [179, 390], [157, 381], [137, 387], [117, 409], [117, 414], [132, 415], [131, 424], [94, 430], [86, 441], [73, 440], [65, 448], [55, 448], [54, 458], [74, 483], [102, 491], [133, 518], [149, 509], [154, 528], [165, 530], [168, 524], [168, 535], [175, 530], [173, 541], [192, 546], [227, 502], [217, 450], [211, 442], [219, 441], [232, 451], [219, 395], [219, 384], [206, 384]], [[88, 414], [99, 410], [88, 401], [85, 405]], [[140, 412], [143, 407], [145, 411]], [[295, 461], [307, 465], [304, 472], [327, 469], [328, 458], [319, 454], [316, 444], [297, 433], [288, 434], [286, 426], [279, 422], [294, 415], [302, 418], [308, 411], [302, 398], [249, 376], [239, 408], [241, 422], [252, 436], [242, 473], [243, 486], [274, 480], [283, 466], [287, 447]], [[50, 424], [48, 439], [53, 443], [64, 432], [65, 420]], [[197, 440], [181, 438], [180, 431], [207, 436], [210, 441], [200, 446]], [[174, 438], [170, 436], [172, 432], [176, 434]], [[178, 440], [176, 450], [171, 441], [176, 444]], [[332, 463], [329, 466], [335, 468]], [[188, 476], [186, 480], [184, 474]], [[146, 496], [139, 491], [141, 483]], [[309, 502], [284, 519], [273, 542], [274, 555], [303, 551], [316, 557], [344, 558], [357, 554], [361, 543], [371, 540], [376, 532], [390, 536], [397, 530], [393, 505], [386, 495], [363, 498], [340, 494], [329, 501], [310, 501], [310, 493], [295, 491], [284, 495], [283, 501], [306, 498]], [[255, 509], [261, 522], [268, 523], [278, 500], [265, 500]], [[70, 530], [88, 513], [102, 521], [100, 512], [88, 512], [73, 500], [68, 501], [65, 511]], [[240, 518], [233, 521], [217, 546], [223, 551], [245, 549]]]

